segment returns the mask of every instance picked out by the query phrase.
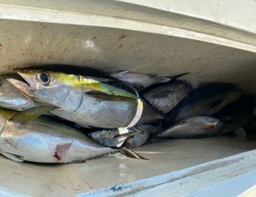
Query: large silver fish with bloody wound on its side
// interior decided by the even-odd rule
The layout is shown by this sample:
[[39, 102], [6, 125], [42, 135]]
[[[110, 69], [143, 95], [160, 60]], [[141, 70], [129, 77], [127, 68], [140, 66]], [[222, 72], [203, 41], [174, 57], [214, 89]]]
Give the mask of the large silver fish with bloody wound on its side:
[[18, 113], [0, 109], [1, 155], [17, 162], [77, 163], [116, 152], [62, 123], [42, 117], [32, 120], [40, 108]]

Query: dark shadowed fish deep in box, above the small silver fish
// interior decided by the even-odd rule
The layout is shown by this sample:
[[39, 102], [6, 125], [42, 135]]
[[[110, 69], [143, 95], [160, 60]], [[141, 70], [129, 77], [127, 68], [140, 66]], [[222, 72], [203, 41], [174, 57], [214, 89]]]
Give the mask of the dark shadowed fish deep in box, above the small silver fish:
[[227, 104], [243, 95], [236, 85], [227, 83], [208, 83], [189, 93], [170, 112], [166, 114], [167, 125], [193, 116], [212, 116]]

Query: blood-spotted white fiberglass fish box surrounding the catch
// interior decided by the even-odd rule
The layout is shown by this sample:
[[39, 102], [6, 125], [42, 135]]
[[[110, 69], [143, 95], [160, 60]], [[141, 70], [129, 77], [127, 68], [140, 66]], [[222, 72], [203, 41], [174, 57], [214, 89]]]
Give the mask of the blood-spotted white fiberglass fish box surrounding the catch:
[[[0, 73], [48, 63], [189, 72], [181, 79], [192, 85], [231, 82], [256, 93], [255, 9], [253, 0], [1, 0]], [[148, 161], [119, 153], [63, 165], [0, 157], [0, 196], [255, 196], [255, 148], [255, 140], [215, 136], [135, 149]]]

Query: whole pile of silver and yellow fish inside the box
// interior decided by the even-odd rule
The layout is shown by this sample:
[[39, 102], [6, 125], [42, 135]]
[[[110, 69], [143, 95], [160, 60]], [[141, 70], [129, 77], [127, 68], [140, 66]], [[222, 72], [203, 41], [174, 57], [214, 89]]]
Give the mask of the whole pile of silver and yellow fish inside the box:
[[[152, 139], [246, 136], [255, 99], [236, 85], [192, 88], [173, 77], [77, 66], [1, 76], [0, 153], [13, 161], [78, 163]], [[189, 74], [189, 73], [185, 73]]]

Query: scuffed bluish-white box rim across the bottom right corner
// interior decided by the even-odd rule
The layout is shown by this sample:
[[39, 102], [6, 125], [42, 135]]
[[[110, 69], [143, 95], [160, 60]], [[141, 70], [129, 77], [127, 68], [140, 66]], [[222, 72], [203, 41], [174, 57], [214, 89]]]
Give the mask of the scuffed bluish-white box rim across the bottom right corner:
[[80, 193], [76, 196], [255, 196], [255, 157], [256, 151], [252, 150], [187, 169]]

